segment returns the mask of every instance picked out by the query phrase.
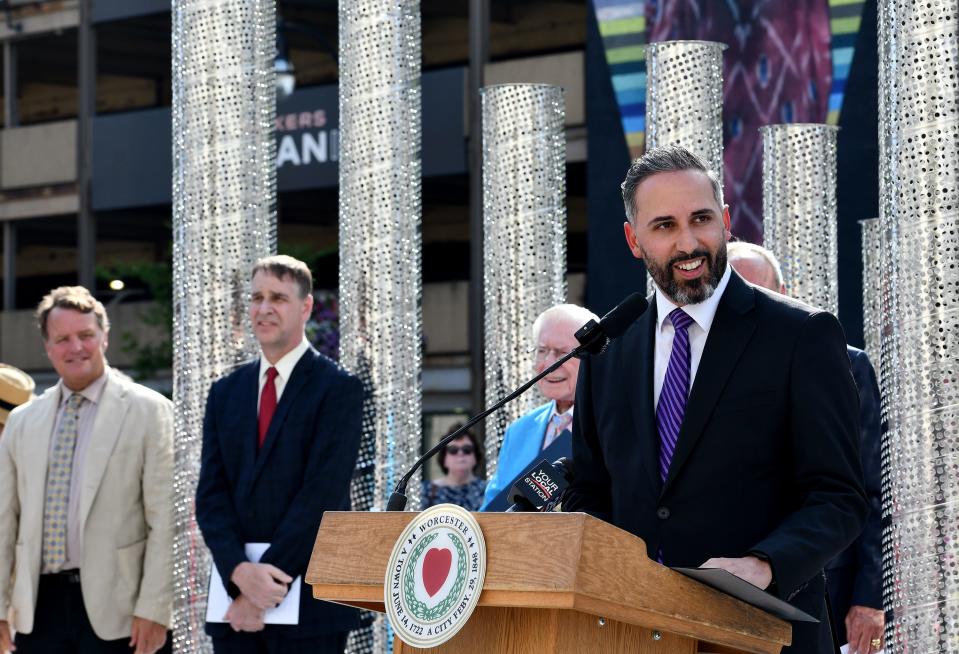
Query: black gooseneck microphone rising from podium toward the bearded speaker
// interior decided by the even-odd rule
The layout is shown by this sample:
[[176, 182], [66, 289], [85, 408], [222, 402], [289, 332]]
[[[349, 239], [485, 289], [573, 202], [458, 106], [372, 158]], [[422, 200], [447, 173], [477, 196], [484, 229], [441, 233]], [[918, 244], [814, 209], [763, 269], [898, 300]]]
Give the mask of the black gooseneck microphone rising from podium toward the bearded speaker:
[[[576, 340], [579, 341], [579, 345], [576, 346], [575, 349], [564, 354], [562, 357], [553, 362], [551, 366], [543, 370], [543, 372], [530, 379], [528, 382], [517, 388], [515, 391], [504, 397], [493, 406], [467, 420], [466, 424], [445, 438], [441, 439], [440, 442], [430, 448], [426, 454], [417, 459], [416, 463], [414, 463], [407, 473], [399, 480], [399, 482], [397, 482], [396, 488], [393, 490], [392, 495], [390, 495], [390, 500], [386, 504], [386, 510], [402, 511], [406, 508], [406, 486], [409, 484], [410, 479], [413, 477], [419, 467], [423, 465], [423, 463], [428, 461], [430, 457], [446, 447], [447, 443], [459, 438], [463, 432], [489, 414], [493, 413], [493, 411], [496, 411], [506, 403], [515, 400], [517, 397], [529, 390], [533, 384], [559, 368], [573, 357], [583, 358], [588, 354], [600, 354], [606, 349], [606, 345], [609, 344], [609, 341], [622, 336], [623, 332], [625, 332], [631, 324], [636, 322], [642, 313], [646, 311], [646, 307], [648, 306], [649, 303], [646, 301], [645, 297], [643, 297], [640, 293], [633, 293], [616, 305], [613, 309], [611, 309], [610, 312], [603, 316], [598, 323], [595, 320], [590, 320], [588, 323], [583, 325], [575, 334]], [[549, 464], [547, 463], [547, 465]]]

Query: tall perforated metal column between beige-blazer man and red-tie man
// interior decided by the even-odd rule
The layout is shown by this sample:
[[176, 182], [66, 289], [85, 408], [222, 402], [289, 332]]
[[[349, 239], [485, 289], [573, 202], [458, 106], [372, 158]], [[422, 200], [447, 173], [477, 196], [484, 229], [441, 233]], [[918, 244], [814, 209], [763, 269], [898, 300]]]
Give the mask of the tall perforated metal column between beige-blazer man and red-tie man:
[[193, 507], [206, 394], [257, 352], [250, 268], [276, 244], [274, 4], [173, 3], [173, 644], [190, 654], [210, 651]]

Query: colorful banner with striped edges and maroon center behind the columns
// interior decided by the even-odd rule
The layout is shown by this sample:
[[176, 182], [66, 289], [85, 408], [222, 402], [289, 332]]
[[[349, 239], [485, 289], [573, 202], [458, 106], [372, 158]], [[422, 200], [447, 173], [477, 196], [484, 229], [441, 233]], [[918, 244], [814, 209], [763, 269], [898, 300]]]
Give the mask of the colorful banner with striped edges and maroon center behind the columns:
[[776, 123], [837, 124], [864, 0], [593, 0], [631, 156], [644, 149], [647, 42], [719, 41], [725, 195], [733, 233], [762, 242], [762, 139]]

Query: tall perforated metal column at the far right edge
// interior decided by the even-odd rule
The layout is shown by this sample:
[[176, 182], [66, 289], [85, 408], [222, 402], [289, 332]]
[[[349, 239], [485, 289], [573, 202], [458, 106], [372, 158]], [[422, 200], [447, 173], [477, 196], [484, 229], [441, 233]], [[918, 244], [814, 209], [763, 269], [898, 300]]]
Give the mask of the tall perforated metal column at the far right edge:
[[879, 3], [886, 651], [959, 652], [959, 0]]

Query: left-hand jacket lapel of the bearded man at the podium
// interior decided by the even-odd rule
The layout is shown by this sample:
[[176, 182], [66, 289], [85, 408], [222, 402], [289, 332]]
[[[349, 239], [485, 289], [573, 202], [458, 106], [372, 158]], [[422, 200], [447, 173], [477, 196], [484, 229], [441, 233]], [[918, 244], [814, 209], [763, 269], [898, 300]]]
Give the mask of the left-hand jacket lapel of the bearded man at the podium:
[[[649, 302], [649, 309], [640, 316], [636, 326], [628, 334], [629, 340], [623, 351], [621, 364], [638, 368], [639, 379], [629, 405], [633, 411], [635, 438], [642, 448], [643, 467], [646, 477], [656, 493], [659, 493], [659, 431], [656, 428], [656, 412], [653, 410], [653, 361], [656, 348], [656, 301]], [[629, 379], [632, 375], [625, 378]]]

